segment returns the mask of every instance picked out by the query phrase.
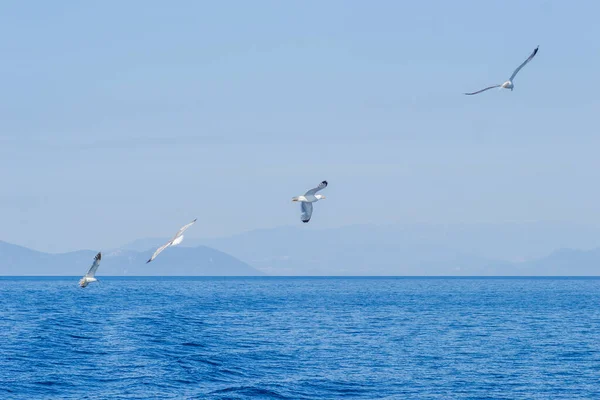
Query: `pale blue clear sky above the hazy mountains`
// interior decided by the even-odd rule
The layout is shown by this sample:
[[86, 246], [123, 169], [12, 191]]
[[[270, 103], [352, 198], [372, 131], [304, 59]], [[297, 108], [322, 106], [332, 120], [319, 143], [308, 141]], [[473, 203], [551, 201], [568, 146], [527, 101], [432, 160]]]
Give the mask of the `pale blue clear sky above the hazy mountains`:
[[[0, 9], [0, 240], [600, 224], [596, 1], [53, 1]], [[515, 90], [502, 83], [540, 45]]]

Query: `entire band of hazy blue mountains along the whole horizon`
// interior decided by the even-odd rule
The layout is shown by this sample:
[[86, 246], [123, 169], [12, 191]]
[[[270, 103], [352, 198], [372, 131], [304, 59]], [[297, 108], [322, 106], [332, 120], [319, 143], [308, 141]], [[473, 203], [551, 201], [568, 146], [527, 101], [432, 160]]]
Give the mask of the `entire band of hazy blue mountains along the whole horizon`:
[[[319, 230], [302, 225], [216, 239], [188, 237], [146, 264], [166, 240], [141, 239], [104, 252], [102, 274], [600, 275], [600, 229], [576, 224], [390, 224]], [[573, 249], [577, 247], [589, 250]], [[0, 275], [82, 275], [94, 254], [46, 254], [0, 242]]]

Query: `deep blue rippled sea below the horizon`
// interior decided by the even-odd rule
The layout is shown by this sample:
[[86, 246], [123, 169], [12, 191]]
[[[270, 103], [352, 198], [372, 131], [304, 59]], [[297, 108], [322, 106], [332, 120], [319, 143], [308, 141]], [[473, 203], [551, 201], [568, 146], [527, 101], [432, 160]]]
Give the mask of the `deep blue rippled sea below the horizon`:
[[0, 278], [1, 399], [600, 399], [600, 279]]

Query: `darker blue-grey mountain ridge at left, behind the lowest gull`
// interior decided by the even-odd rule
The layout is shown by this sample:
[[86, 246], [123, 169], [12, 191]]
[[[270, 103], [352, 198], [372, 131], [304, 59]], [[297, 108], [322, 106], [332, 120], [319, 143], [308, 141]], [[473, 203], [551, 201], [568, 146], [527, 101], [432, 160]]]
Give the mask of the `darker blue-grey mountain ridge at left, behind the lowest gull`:
[[[103, 252], [98, 275], [250, 276], [263, 275], [250, 265], [205, 246], [173, 247], [146, 264], [154, 249]], [[0, 242], [0, 275], [83, 275], [95, 250], [48, 254]]]

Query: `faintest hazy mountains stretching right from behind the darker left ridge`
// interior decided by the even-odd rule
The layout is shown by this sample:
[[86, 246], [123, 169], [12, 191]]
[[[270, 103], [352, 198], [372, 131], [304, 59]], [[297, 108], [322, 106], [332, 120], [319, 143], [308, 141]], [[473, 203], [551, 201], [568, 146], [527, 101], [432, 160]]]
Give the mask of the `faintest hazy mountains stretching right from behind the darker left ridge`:
[[[301, 226], [202, 243], [270, 275], [595, 275], [590, 260], [587, 267], [570, 268], [561, 261], [559, 268], [548, 254], [597, 247], [600, 229], [553, 222]], [[573, 252], [573, 261], [579, 260]]]

